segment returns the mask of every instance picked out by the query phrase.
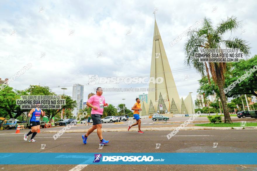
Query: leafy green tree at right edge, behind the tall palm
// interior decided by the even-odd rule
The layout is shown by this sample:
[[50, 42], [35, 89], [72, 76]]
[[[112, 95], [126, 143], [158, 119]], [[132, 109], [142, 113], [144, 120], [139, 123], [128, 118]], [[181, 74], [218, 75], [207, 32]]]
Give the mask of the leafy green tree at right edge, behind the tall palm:
[[240, 62], [233, 62], [228, 65], [225, 87], [229, 87], [233, 82], [237, 81], [237, 79], [240, 79], [244, 74], [246, 74], [246, 77], [244, 80], [241, 79], [241, 82], [239, 80], [240, 83], [237, 83], [235, 87], [228, 91], [226, 94], [227, 97], [237, 98], [244, 94], [254, 95], [257, 97], [257, 71], [252, 71], [251, 74], [249, 74], [249, 71], [252, 70], [253, 66], [256, 65], [257, 55], [248, 60], [240, 60]]

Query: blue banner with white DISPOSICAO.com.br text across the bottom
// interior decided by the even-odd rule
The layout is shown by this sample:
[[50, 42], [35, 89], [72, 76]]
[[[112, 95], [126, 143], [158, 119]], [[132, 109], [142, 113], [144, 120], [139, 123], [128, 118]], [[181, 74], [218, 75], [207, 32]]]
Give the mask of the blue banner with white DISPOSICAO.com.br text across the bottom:
[[0, 153], [6, 164], [256, 165], [257, 153]]

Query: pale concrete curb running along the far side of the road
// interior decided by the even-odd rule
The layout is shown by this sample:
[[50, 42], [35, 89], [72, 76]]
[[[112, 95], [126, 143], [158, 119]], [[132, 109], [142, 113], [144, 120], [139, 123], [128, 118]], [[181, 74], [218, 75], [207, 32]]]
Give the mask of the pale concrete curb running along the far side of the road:
[[[163, 128], [141, 128], [142, 131], [174, 131], [178, 127], [163, 127]], [[179, 130], [228, 130], [228, 129], [257, 129], [257, 126], [248, 127], [184, 127]], [[66, 130], [66, 131], [42, 131], [42, 133], [86, 133], [88, 129]], [[102, 132], [127, 132], [127, 128], [118, 129], [102, 129]], [[138, 131], [138, 128], [130, 128], [130, 131]], [[93, 132], [96, 132], [94, 130]]]

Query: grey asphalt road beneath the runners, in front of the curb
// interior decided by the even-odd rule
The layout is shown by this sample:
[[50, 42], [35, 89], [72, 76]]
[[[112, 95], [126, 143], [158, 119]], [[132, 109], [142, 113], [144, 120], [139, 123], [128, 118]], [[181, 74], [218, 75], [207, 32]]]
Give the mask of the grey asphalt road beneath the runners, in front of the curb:
[[[197, 130], [179, 131], [167, 139], [170, 131], [105, 132], [110, 140], [103, 149], [98, 149], [99, 139], [92, 133], [83, 144], [82, 133], [64, 133], [53, 139], [53, 133], [39, 133], [37, 142], [25, 142], [23, 134], [1, 134], [0, 152], [257, 152], [256, 130]], [[159, 149], [155, 149], [160, 143]], [[213, 143], [218, 143], [213, 148]], [[41, 144], [46, 144], [41, 149]], [[238, 159], [235, 159], [238, 160]], [[240, 160], [244, 160], [241, 158]], [[244, 168], [247, 167], [247, 168]], [[0, 165], [1, 170], [257, 170], [257, 165]]]

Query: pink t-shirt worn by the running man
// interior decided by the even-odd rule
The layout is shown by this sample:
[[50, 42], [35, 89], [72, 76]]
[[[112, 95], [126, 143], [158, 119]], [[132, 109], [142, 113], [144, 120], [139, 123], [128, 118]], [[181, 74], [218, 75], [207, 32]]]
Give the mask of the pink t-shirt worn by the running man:
[[86, 102], [91, 103], [97, 107], [97, 110], [92, 108], [91, 114], [103, 114], [103, 105], [105, 104], [104, 96], [97, 96], [96, 94], [91, 96]]

